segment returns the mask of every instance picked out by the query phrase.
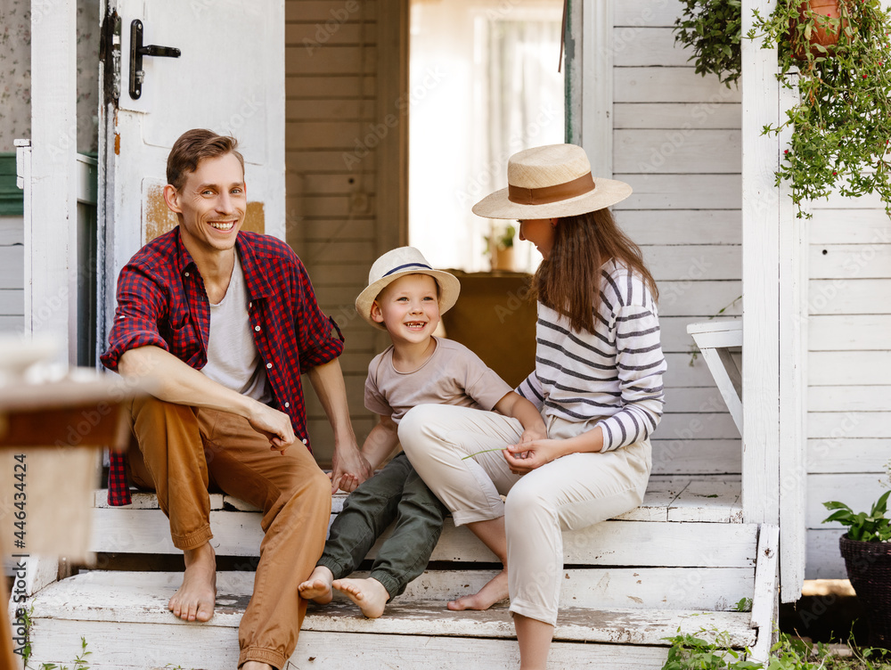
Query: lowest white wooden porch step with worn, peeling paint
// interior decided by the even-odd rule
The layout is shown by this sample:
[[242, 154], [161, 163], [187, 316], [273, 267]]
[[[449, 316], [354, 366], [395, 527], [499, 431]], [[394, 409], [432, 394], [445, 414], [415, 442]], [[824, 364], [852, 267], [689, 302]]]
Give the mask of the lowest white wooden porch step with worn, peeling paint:
[[[208, 624], [187, 624], [168, 612], [167, 601], [181, 579], [179, 573], [92, 572], [52, 584], [33, 600], [32, 635], [39, 643], [32, 665], [70, 663], [83, 635], [94, 668], [234, 666], [237, 628], [253, 576], [218, 575], [217, 614]], [[424, 579], [436, 581], [436, 576], [427, 573]], [[506, 606], [451, 612], [440, 598], [422, 599], [424, 592], [423, 584], [416, 585], [379, 619], [366, 619], [348, 601], [311, 607], [289, 667], [356, 667], [350, 658], [356, 662], [357, 649], [362, 666], [370, 668], [516, 667]], [[732, 645], [741, 648], [756, 641], [750, 622], [749, 612], [565, 607], [554, 635], [552, 667], [659, 668], [666, 656], [663, 638], [679, 629], [727, 631]], [[323, 661], [333, 665], [320, 665]]]

